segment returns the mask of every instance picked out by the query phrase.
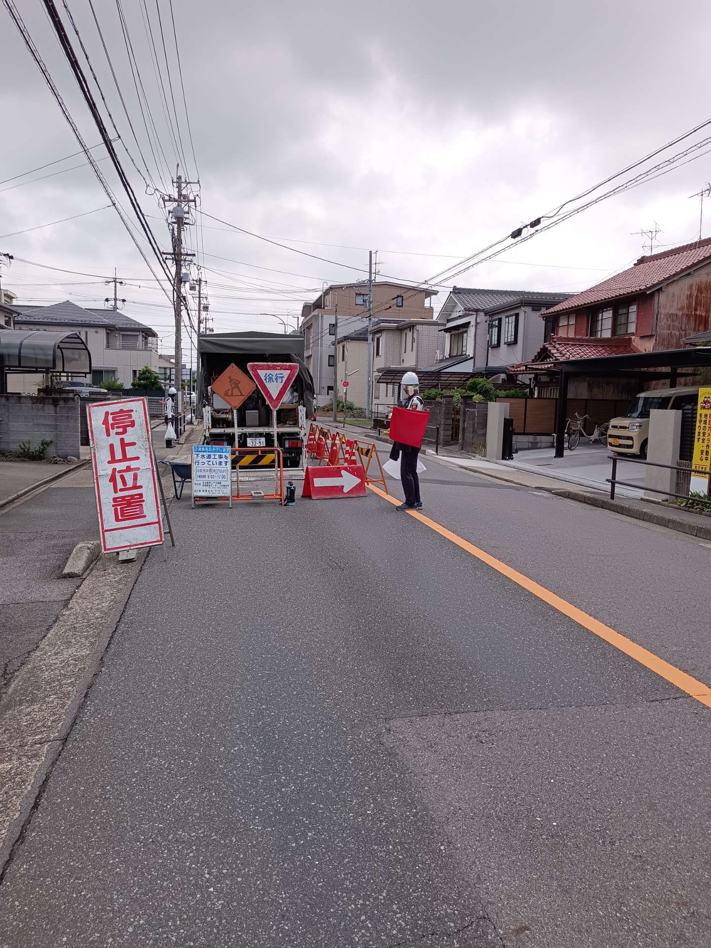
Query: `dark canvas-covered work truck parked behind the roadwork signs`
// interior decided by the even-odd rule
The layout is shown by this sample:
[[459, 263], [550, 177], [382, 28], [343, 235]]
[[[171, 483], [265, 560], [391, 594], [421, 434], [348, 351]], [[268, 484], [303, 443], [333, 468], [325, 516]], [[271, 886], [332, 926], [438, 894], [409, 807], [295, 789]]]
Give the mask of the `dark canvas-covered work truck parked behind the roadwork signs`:
[[[314, 381], [304, 362], [303, 337], [264, 332], [209, 333], [200, 336], [198, 350], [197, 398], [203, 408], [203, 444], [279, 447], [284, 467], [302, 467], [306, 422], [314, 413]], [[248, 362], [296, 362], [299, 366], [291, 390], [277, 410], [276, 425], [274, 413], [259, 389], [237, 410], [212, 392], [212, 382], [229, 365], [236, 365], [248, 375]], [[264, 457], [254, 461], [262, 468], [274, 466], [273, 462], [264, 463]], [[248, 462], [243, 458], [240, 463]]]

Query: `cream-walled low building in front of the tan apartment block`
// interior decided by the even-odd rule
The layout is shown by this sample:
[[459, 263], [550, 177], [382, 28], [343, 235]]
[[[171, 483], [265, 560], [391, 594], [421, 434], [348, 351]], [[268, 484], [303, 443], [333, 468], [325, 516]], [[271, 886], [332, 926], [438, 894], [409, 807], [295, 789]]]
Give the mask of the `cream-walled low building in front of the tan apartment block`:
[[[378, 385], [377, 377], [385, 368], [402, 367], [417, 370], [434, 358], [440, 326], [434, 319], [398, 319], [396, 316], [374, 319], [373, 337], [373, 406], [395, 396], [396, 385]], [[358, 326], [341, 336], [338, 322], [336, 347], [338, 396], [348, 374], [348, 401], [357, 408], [368, 404], [368, 326]], [[392, 400], [388, 401], [392, 404]]]

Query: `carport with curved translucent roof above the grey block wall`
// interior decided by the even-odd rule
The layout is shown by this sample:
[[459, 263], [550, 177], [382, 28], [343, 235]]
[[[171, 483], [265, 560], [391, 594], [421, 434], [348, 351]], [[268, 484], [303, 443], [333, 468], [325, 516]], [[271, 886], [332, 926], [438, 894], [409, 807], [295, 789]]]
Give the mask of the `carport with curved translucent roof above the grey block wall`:
[[0, 394], [6, 394], [9, 372], [91, 374], [91, 353], [79, 333], [43, 329], [0, 332]]

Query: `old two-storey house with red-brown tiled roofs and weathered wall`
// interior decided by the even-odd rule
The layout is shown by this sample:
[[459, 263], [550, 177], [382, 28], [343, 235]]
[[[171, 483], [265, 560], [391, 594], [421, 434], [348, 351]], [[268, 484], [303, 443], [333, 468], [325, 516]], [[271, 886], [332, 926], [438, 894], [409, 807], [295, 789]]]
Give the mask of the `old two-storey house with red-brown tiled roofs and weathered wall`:
[[[557, 391], [556, 363], [572, 358], [679, 349], [711, 329], [711, 238], [640, 257], [545, 313], [552, 335], [528, 365], [538, 392]], [[519, 368], [523, 368], [522, 366]], [[633, 394], [637, 381], [574, 379], [573, 397]]]

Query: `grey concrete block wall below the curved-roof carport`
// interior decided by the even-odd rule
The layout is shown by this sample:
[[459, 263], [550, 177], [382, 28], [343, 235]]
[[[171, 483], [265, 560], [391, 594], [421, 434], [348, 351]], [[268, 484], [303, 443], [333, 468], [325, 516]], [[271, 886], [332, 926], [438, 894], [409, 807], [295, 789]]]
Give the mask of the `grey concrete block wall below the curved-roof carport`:
[[29, 441], [51, 441], [46, 456], [79, 457], [80, 400], [77, 395], [0, 395], [0, 451]]

